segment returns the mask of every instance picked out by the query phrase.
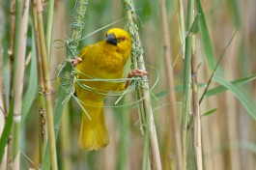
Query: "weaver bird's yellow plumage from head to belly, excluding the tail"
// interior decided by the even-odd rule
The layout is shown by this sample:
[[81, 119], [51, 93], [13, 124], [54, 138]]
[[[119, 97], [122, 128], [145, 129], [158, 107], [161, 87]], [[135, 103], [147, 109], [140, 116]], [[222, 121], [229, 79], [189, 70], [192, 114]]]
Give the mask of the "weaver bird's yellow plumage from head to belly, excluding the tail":
[[[107, 31], [115, 42], [97, 42], [85, 46], [79, 54], [82, 62], [76, 67], [77, 79], [90, 79], [94, 81], [80, 81], [89, 87], [89, 90], [75, 85], [76, 95], [81, 100], [102, 100], [109, 91], [123, 89], [124, 83], [107, 82], [102, 79], [123, 78], [124, 67], [131, 51], [131, 40], [125, 30], [113, 28]], [[113, 44], [114, 43], [114, 44]], [[100, 81], [97, 81], [97, 78]]]

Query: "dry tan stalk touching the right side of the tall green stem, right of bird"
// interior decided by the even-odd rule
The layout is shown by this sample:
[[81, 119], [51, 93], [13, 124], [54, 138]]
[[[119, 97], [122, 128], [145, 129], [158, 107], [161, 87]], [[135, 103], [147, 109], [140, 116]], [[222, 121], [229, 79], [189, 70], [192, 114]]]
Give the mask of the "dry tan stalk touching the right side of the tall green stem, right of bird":
[[197, 83], [197, 56], [195, 36], [192, 36], [192, 58], [191, 58], [191, 81], [192, 81], [192, 112], [193, 112], [193, 147], [195, 165], [197, 170], [203, 170], [202, 160], [202, 132], [201, 132], [201, 114], [198, 99]]

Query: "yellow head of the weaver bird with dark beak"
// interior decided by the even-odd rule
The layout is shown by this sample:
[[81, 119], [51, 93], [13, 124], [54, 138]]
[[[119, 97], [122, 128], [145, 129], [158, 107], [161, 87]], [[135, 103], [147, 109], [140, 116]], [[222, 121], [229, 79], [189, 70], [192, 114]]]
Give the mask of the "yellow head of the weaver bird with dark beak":
[[116, 46], [117, 52], [130, 54], [131, 38], [127, 31], [121, 28], [111, 28], [106, 32], [105, 41]]

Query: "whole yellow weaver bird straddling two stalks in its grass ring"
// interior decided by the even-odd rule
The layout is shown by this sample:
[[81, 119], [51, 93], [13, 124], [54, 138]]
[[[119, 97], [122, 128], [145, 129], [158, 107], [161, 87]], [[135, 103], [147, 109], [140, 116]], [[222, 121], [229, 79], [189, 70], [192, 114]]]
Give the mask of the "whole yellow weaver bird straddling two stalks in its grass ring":
[[[76, 66], [77, 79], [123, 78], [124, 67], [131, 52], [131, 38], [127, 31], [112, 28], [106, 32], [106, 39], [102, 42], [89, 44], [83, 47], [79, 57], [71, 59]], [[130, 71], [128, 77], [143, 76], [147, 71]], [[106, 81], [80, 81], [75, 83], [75, 94], [81, 101], [82, 123], [78, 145], [86, 150], [100, 150], [109, 143], [105, 125], [103, 99], [109, 91], [123, 91], [128, 83]], [[82, 86], [89, 86], [89, 90]], [[90, 90], [91, 89], [91, 90]], [[89, 116], [87, 116], [87, 114]], [[90, 117], [90, 118], [89, 118]]]

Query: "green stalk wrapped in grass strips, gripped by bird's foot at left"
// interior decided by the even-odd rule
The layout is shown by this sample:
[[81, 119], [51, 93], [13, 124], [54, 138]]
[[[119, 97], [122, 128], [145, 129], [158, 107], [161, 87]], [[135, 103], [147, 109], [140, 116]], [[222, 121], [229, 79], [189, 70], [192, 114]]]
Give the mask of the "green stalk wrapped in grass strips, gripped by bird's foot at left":
[[[68, 38], [66, 41], [67, 45], [67, 56], [66, 56], [66, 62], [60, 67], [60, 70], [58, 72], [58, 76], [60, 77], [59, 86], [57, 90], [56, 95], [56, 102], [54, 106], [54, 124], [56, 126], [59, 126], [61, 123], [61, 117], [63, 113], [64, 108], [64, 100], [67, 99], [67, 89], [73, 88], [73, 84], [69, 79], [67, 81], [67, 76], [71, 76], [71, 73], [74, 72], [73, 68], [71, 66], [70, 59], [71, 57], [74, 58], [76, 56], [76, 48], [79, 44], [79, 39], [81, 38], [81, 32], [84, 27], [85, 23], [85, 12], [86, 12], [86, 6], [87, 6], [88, 0], [77, 0], [76, 6], [75, 6], [75, 16], [74, 20], [72, 22], [72, 28], [71, 28], [71, 38]], [[43, 72], [44, 73], [44, 72]], [[65, 76], [65, 78], [62, 78], [62, 76]], [[66, 89], [67, 88], [67, 89]], [[56, 128], [55, 130], [55, 137], [57, 137], [59, 128]], [[48, 147], [46, 147], [45, 150], [45, 156], [43, 157], [43, 170], [49, 169], [49, 157], [48, 157]]]

